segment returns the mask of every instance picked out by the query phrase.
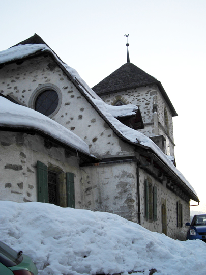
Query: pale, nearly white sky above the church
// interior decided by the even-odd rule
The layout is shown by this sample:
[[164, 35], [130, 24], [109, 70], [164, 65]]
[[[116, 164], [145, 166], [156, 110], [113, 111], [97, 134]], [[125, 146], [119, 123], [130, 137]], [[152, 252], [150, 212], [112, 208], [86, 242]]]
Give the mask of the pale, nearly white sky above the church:
[[[177, 168], [205, 211], [205, 0], [0, 0], [0, 50], [37, 33], [93, 87], [130, 62], [161, 81]], [[200, 104], [201, 103], [201, 104]], [[191, 202], [193, 203], [193, 202]], [[194, 203], [196, 204], [196, 203]]]

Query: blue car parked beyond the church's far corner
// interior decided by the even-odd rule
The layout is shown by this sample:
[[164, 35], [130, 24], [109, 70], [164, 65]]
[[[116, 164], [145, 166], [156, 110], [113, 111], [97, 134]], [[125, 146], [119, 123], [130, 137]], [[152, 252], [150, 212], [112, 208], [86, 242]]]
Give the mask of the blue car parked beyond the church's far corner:
[[191, 224], [185, 225], [190, 227], [186, 240], [200, 239], [206, 242], [206, 214], [194, 215]]

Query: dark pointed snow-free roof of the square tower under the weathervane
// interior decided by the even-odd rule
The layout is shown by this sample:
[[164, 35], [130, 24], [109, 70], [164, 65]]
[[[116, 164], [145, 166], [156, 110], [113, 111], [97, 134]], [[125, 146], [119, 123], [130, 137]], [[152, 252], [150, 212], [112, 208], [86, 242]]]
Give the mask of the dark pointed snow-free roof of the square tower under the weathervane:
[[162, 84], [155, 77], [127, 62], [95, 85], [92, 90], [99, 96], [156, 84], [169, 105], [172, 116], [178, 116]]

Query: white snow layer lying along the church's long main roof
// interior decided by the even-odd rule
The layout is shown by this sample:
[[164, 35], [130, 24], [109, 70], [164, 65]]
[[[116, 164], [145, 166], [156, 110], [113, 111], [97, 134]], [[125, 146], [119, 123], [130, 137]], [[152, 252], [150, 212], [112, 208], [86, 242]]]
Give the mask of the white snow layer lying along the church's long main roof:
[[[176, 169], [172, 161], [161, 151], [161, 149], [149, 137], [132, 128], [127, 127], [116, 119], [116, 117], [120, 117], [121, 115], [125, 116], [127, 113], [133, 113], [135, 110], [137, 110], [137, 107], [135, 105], [126, 105], [127, 109], [124, 109], [125, 106], [111, 106], [106, 104], [86, 84], [86, 82], [79, 76], [77, 71], [65, 64], [46, 44], [20, 44], [7, 50], [1, 51], [0, 64], [30, 57], [33, 56], [35, 53], [40, 53], [44, 51], [49, 52], [53, 56], [55, 61], [61, 66], [65, 73], [67, 73], [67, 75], [74, 82], [76, 87], [78, 87], [81, 93], [83, 93], [87, 100], [89, 100], [90, 103], [96, 108], [97, 112], [103, 117], [103, 119], [108, 122], [110, 127], [115, 131], [117, 135], [133, 145], [141, 145], [145, 146], [146, 148], [150, 148], [161, 159], [161, 161], [163, 161], [166, 166], [181, 180], [181, 182], [183, 182], [183, 185], [186, 185], [192, 191], [192, 193], [194, 194], [193, 200], [198, 201], [198, 197], [194, 188], [186, 180], [183, 174], [178, 169]], [[35, 112], [34, 110], [31, 111]], [[45, 117], [45, 119], [48, 118]], [[82, 140], [81, 142], [83, 143]]]

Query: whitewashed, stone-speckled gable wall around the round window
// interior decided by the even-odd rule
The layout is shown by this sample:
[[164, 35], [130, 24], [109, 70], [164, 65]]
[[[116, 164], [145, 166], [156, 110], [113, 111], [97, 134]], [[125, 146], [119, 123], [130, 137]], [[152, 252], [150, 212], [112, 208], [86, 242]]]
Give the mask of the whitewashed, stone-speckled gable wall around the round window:
[[73, 131], [97, 157], [131, 155], [131, 146], [122, 142], [99, 116], [91, 104], [74, 87], [65, 73], [51, 58], [39, 57], [32, 61], [16, 63], [1, 69], [1, 93], [12, 95], [25, 106], [31, 105], [31, 97], [38, 87], [57, 86], [62, 94], [62, 104], [53, 120]]

